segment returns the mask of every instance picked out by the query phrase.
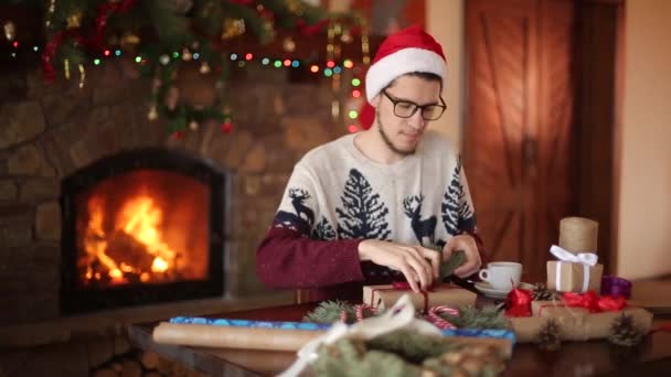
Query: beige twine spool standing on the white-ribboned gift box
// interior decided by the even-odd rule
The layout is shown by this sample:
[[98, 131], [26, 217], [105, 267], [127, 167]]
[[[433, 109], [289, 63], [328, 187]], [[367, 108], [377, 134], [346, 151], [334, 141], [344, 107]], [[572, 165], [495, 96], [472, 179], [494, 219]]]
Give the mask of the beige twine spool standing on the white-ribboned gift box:
[[584, 217], [560, 222], [560, 247], [573, 252], [597, 252], [599, 223]]

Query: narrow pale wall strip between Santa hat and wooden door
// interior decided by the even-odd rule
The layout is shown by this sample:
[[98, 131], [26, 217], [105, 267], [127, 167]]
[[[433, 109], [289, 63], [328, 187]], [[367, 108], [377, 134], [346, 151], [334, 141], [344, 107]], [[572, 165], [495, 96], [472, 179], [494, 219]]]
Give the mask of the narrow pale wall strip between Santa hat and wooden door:
[[443, 45], [447, 58], [447, 86], [443, 97], [445, 115], [430, 127], [461, 144], [464, 104], [464, 0], [426, 0], [426, 29]]

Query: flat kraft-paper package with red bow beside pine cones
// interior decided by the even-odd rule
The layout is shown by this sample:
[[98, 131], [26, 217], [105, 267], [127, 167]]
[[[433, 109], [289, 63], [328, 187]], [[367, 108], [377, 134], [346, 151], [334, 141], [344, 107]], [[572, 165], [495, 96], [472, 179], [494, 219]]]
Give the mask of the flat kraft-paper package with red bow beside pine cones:
[[510, 321], [521, 343], [535, 342], [545, 321], [551, 317], [560, 324], [560, 337], [563, 341], [589, 341], [607, 337], [613, 322], [622, 313], [631, 315], [636, 326], [645, 333], [652, 328], [652, 313], [641, 308], [625, 308], [619, 312], [592, 314], [576, 312], [575, 315], [511, 317]]

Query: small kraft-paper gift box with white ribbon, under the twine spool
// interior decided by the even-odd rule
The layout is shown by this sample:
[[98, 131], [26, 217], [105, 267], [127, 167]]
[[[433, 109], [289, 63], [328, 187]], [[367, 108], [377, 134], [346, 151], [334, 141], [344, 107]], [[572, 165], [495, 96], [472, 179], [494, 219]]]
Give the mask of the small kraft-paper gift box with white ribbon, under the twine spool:
[[[556, 283], [557, 263], [561, 263], [560, 286]], [[587, 290], [601, 291], [601, 274], [604, 265], [594, 267], [558, 260], [547, 261], [547, 288], [560, 292], [583, 292], [584, 269], [589, 269]]]

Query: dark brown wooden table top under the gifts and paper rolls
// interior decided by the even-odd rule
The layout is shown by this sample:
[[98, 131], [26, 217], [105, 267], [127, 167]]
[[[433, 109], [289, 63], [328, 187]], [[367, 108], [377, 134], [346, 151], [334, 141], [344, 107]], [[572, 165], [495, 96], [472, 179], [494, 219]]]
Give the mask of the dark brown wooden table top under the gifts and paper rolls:
[[[300, 321], [315, 304], [263, 308], [220, 315], [226, 319]], [[656, 323], [669, 322], [658, 317]], [[151, 332], [157, 323], [129, 326], [131, 342], [146, 351], [178, 362], [210, 376], [275, 375], [287, 368], [295, 353], [241, 349], [212, 349], [156, 344]], [[621, 355], [606, 341], [565, 342], [555, 352], [540, 351], [532, 344], [518, 344], [503, 376], [662, 376], [671, 371], [671, 333], [654, 332], [645, 342]]]

